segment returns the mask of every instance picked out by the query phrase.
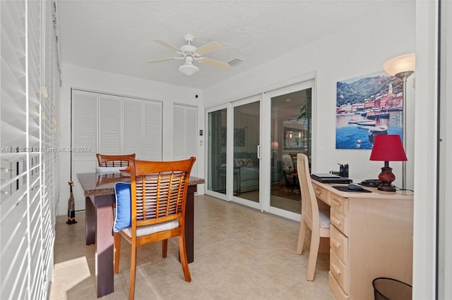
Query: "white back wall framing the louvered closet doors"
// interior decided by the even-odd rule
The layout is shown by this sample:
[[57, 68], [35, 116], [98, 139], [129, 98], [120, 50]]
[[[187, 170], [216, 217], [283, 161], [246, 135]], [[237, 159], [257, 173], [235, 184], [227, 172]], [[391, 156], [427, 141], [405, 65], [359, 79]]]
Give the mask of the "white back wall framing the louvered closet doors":
[[[107, 73], [99, 70], [80, 68], [75, 65], [62, 65], [61, 85], [61, 147], [71, 146], [71, 88], [109, 92], [125, 96], [163, 101], [163, 157], [164, 161], [172, 160], [173, 153], [173, 104], [198, 106], [198, 130], [204, 130], [203, 92], [198, 89], [167, 85], [160, 82], [141, 80], [135, 77]], [[195, 99], [194, 95], [198, 94]], [[205, 131], [205, 130], [204, 130]], [[203, 137], [199, 137], [203, 138]], [[71, 179], [69, 152], [60, 153], [60, 199], [57, 204], [58, 214], [67, 213], [69, 186], [65, 183]], [[204, 146], [199, 146], [196, 158], [197, 177], [204, 177]], [[94, 171], [93, 166], [93, 171]], [[76, 178], [72, 178], [76, 182]], [[203, 185], [198, 186], [198, 194], [203, 193]], [[80, 209], [76, 207], [76, 210]]]

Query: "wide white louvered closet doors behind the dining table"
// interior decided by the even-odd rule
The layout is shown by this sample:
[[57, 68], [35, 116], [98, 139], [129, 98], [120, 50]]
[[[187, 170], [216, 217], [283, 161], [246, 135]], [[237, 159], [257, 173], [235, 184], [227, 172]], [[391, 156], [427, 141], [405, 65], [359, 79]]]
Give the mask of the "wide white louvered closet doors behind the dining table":
[[72, 105], [72, 147], [90, 149], [72, 154], [78, 211], [85, 209], [85, 196], [77, 174], [95, 172], [96, 153], [162, 160], [162, 102], [73, 89]]

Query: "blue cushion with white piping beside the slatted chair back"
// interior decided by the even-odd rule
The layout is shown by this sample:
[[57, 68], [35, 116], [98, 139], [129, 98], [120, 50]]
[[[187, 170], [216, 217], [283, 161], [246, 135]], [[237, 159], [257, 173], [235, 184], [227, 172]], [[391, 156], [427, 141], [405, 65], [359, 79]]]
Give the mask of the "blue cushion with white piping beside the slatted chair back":
[[116, 218], [114, 218], [113, 231], [131, 227], [131, 184], [128, 182], [117, 182], [114, 185], [114, 196], [116, 198]]

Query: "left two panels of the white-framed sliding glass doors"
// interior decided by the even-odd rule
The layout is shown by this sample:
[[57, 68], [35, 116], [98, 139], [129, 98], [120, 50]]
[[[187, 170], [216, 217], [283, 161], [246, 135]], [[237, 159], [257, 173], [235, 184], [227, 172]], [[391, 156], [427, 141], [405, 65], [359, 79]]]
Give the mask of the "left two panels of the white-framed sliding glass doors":
[[261, 95], [208, 109], [206, 194], [261, 209]]

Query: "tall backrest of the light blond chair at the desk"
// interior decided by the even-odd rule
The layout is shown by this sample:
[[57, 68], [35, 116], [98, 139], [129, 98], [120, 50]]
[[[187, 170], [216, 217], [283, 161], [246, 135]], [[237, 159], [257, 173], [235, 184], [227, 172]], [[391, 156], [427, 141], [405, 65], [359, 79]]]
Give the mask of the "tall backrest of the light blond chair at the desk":
[[319, 230], [319, 205], [317, 204], [316, 194], [312, 186], [309, 161], [306, 154], [297, 154], [297, 173], [299, 188], [302, 194], [302, 218], [311, 230], [313, 228]]

